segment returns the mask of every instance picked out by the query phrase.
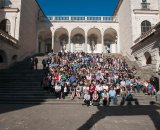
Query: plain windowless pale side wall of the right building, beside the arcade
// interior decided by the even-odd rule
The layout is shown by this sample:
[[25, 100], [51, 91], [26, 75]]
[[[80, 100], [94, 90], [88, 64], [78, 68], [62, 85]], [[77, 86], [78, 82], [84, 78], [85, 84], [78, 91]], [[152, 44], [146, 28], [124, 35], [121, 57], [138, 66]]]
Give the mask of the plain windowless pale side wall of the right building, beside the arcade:
[[131, 54], [130, 47], [132, 46], [132, 20], [131, 20], [131, 2], [123, 0], [117, 16], [119, 19], [119, 38], [120, 38], [120, 53], [123, 55]]

